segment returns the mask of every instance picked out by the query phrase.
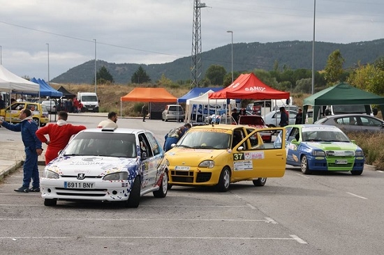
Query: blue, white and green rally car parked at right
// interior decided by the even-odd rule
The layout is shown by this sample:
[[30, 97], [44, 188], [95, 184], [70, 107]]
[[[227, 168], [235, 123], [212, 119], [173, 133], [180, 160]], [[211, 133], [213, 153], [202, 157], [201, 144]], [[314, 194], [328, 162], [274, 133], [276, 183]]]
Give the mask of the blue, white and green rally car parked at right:
[[287, 164], [301, 167], [302, 173], [316, 171], [350, 171], [360, 175], [364, 169], [365, 157], [362, 149], [338, 127], [332, 125], [288, 125], [286, 134], [279, 134], [286, 141]]

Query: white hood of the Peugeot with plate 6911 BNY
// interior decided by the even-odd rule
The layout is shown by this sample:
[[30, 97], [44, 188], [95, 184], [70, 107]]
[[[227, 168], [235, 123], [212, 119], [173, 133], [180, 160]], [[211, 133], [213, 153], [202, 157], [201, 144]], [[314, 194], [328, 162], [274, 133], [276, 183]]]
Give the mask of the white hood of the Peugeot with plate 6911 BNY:
[[77, 173], [105, 176], [109, 173], [127, 171], [128, 168], [137, 164], [136, 158], [65, 156], [57, 157], [45, 169], [59, 173], [61, 176], [75, 176]]

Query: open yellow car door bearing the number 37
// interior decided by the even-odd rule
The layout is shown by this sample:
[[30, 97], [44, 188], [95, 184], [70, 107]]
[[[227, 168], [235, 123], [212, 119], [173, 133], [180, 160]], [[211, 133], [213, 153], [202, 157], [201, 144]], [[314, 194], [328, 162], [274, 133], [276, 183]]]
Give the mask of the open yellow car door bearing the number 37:
[[254, 130], [232, 150], [232, 180], [244, 180], [260, 177], [282, 177], [286, 171], [285, 141], [279, 146], [274, 143], [264, 144], [261, 133], [275, 130], [286, 134], [283, 127]]

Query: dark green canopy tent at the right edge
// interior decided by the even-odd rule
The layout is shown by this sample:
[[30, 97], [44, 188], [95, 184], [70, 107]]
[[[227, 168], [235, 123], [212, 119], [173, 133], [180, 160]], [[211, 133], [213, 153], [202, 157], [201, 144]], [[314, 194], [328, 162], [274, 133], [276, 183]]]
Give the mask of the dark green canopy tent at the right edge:
[[381, 112], [383, 112], [384, 98], [342, 82], [325, 88], [323, 91], [319, 91], [308, 98], [304, 98], [303, 116], [307, 115], [307, 110], [310, 105], [313, 107], [313, 122], [315, 122], [318, 119], [321, 106], [364, 105], [367, 114], [371, 114], [371, 105], [379, 105]]

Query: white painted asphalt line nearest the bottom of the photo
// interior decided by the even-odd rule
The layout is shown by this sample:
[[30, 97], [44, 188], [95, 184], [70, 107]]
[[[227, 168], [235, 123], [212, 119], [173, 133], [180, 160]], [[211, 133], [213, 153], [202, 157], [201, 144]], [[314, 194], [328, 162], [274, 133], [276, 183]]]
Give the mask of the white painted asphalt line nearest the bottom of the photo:
[[194, 239], [194, 240], [295, 240], [301, 244], [307, 244], [296, 235], [290, 235], [292, 238], [247, 238], [247, 237], [209, 237], [209, 236], [0, 236], [0, 239]]

